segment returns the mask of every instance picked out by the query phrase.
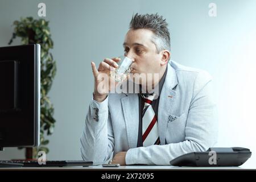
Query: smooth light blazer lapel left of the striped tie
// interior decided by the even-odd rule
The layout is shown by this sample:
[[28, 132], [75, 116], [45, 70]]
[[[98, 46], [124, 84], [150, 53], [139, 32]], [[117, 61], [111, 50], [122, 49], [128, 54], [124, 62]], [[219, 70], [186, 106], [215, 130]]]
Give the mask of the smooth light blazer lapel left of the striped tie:
[[138, 94], [127, 94], [121, 98], [123, 116], [130, 148], [137, 147], [139, 130], [139, 99]]

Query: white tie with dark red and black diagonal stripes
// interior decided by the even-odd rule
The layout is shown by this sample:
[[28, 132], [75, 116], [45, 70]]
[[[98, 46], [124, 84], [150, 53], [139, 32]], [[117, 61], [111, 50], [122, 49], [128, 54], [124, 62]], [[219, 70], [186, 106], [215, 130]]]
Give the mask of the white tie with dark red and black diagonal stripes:
[[156, 97], [155, 94], [151, 96], [143, 96], [144, 109], [142, 113], [142, 142], [143, 147], [151, 146], [152, 144], [160, 144], [158, 134], [158, 122], [155, 112], [151, 106], [152, 101]]

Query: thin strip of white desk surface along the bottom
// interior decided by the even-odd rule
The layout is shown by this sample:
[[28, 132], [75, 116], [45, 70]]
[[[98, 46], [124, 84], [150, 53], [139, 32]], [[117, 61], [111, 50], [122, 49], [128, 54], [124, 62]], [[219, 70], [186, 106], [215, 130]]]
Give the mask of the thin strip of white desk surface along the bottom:
[[176, 166], [120, 166], [120, 167], [102, 167], [102, 166], [89, 166], [89, 167], [9, 167], [0, 168], [0, 171], [8, 170], [76, 170], [76, 171], [90, 171], [90, 170], [150, 170], [150, 171], [166, 171], [166, 170], [251, 170], [256, 168], [245, 168], [245, 167], [176, 167]]

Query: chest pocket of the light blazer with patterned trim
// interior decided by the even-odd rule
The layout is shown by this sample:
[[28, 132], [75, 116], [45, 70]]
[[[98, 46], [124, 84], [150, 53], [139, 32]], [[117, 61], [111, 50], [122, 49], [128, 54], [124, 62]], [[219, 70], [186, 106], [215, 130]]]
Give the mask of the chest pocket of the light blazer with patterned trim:
[[170, 115], [168, 118], [166, 129], [166, 142], [177, 143], [185, 140], [185, 126], [187, 122], [187, 114], [183, 113], [179, 117]]

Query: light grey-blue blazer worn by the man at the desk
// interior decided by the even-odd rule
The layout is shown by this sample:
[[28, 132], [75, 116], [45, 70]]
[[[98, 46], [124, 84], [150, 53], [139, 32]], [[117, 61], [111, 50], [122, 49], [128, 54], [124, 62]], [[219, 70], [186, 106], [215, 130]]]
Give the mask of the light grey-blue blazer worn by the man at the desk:
[[108, 163], [127, 151], [126, 164], [170, 165], [177, 156], [213, 147], [218, 122], [211, 86], [207, 72], [170, 61], [158, 107], [160, 145], [148, 147], [137, 147], [138, 94], [92, 100], [80, 139], [82, 159]]

